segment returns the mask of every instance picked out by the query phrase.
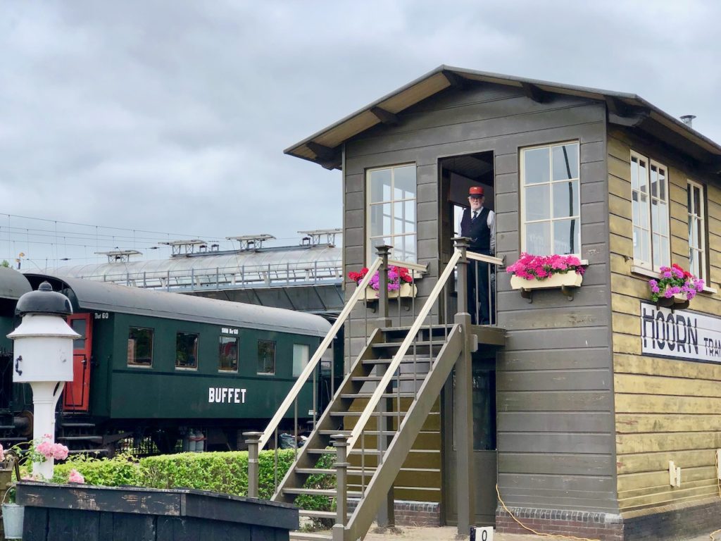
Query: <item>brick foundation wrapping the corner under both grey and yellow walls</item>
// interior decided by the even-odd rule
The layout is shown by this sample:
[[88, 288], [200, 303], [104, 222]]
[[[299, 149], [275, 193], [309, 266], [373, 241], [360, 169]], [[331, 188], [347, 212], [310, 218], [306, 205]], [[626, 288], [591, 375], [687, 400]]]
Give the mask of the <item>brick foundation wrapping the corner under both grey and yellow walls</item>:
[[[721, 499], [676, 503], [621, 515], [589, 511], [510, 507], [525, 526], [543, 534], [572, 535], [601, 541], [673, 541], [703, 535], [721, 527]], [[496, 509], [496, 532], [528, 534], [503, 509]]]

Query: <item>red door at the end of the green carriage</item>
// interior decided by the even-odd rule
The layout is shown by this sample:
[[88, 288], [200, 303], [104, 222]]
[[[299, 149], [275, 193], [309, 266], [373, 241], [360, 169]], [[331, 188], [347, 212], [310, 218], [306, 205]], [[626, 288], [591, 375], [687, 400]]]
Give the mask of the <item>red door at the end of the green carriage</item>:
[[87, 411], [90, 394], [90, 352], [92, 351], [91, 314], [68, 316], [68, 325], [80, 335], [73, 340], [73, 381], [66, 382], [63, 410]]

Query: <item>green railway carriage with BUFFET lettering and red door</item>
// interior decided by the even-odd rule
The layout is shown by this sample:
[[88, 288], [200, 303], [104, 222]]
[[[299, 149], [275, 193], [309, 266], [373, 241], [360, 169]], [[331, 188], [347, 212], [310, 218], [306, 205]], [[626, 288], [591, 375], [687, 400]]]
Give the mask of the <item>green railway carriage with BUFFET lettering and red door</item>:
[[[188, 436], [235, 449], [265, 426], [329, 330], [285, 309], [27, 274], [68, 296], [74, 380], [63, 392], [58, 440], [105, 447], [132, 434], [169, 452]], [[298, 400], [301, 428], [315, 409]], [[293, 414], [286, 428], [291, 429]]]

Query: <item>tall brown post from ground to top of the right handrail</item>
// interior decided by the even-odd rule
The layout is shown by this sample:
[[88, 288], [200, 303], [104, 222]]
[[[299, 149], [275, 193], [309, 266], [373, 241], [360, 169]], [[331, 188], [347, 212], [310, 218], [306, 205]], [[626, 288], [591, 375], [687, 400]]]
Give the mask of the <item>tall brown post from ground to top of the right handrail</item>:
[[463, 351], [456, 361], [454, 390], [454, 439], [458, 462], [456, 464], [456, 502], [458, 507], [458, 536], [469, 535], [475, 523], [475, 491], [473, 472], [473, 369], [471, 359], [471, 315], [468, 312], [468, 260], [466, 250], [469, 239], [454, 239], [461, 251], [458, 264], [458, 312], [454, 321], [464, 332]]

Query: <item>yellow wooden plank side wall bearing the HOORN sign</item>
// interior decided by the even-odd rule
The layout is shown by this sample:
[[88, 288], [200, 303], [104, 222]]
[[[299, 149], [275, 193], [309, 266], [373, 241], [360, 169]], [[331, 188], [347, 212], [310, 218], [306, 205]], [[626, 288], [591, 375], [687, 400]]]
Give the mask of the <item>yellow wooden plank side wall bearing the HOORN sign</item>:
[[[650, 300], [647, 276], [632, 273], [630, 152], [668, 167], [672, 263], [687, 268], [686, 174], [662, 152], [634, 146], [611, 132], [609, 245], [614, 350], [616, 472], [624, 512], [719, 496], [716, 449], [721, 449], [721, 365], [641, 355], [640, 302]], [[721, 281], [721, 188], [707, 185], [710, 282]], [[699, 294], [690, 309], [721, 313], [719, 294]], [[681, 467], [681, 486], [668, 484], [668, 462]]]

